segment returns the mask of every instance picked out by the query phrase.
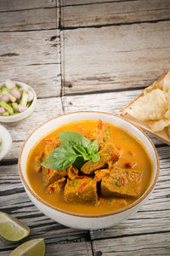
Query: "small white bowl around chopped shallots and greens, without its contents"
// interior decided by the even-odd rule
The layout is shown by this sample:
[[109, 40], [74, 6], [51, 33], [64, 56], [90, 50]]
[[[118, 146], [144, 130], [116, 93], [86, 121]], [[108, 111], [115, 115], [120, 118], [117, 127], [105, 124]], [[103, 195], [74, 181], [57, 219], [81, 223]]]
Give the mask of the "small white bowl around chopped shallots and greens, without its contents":
[[[15, 115], [11, 115], [11, 116], [0, 116], [0, 122], [1, 123], [15, 123], [15, 122], [19, 122], [22, 119], [26, 119], [36, 108], [36, 103], [37, 103], [37, 95], [35, 90], [33, 90], [31, 88], [30, 85], [22, 83], [22, 82], [18, 82], [18, 81], [14, 81], [16, 84], [18, 84], [20, 87], [26, 88], [28, 90], [31, 90], [31, 92], [33, 93], [33, 101], [31, 102], [31, 106], [26, 109], [26, 111], [22, 112], [22, 113], [18, 113]], [[5, 82], [0, 83], [0, 88], [5, 86]]]

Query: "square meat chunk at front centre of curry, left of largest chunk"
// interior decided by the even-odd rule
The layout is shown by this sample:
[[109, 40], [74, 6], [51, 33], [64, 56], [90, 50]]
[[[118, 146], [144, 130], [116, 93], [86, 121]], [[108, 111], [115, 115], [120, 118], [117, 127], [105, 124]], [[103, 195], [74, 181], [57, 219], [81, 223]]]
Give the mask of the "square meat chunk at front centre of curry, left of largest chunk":
[[65, 200], [70, 203], [97, 204], [97, 186], [91, 177], [67, 179], [65, 184]]

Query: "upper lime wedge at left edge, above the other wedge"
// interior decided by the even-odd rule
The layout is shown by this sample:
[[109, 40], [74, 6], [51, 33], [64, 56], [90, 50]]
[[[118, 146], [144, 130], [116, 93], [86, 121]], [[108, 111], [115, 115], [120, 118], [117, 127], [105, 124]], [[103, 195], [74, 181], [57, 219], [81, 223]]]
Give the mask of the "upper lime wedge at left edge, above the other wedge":
[[14, 216], [0, 212], [0, 235], [9, 241], [19, 241], [30, 234], [29, 227]]

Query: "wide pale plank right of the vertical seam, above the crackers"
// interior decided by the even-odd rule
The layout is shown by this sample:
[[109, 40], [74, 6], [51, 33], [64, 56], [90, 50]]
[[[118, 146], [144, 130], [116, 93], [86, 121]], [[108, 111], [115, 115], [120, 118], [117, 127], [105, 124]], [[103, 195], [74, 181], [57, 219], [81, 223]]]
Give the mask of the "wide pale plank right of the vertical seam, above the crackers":
[[149, 85], [170, 69], [169, 33], [170, 21], [62, 32], [64, 93]]

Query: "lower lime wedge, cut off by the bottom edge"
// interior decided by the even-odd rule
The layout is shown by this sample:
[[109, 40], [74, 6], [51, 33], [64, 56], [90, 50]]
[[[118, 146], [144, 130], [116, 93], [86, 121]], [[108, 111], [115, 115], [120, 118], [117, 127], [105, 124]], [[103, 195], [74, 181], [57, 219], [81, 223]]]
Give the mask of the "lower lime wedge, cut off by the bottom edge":
[[45, 242], [43, 238], [39, 238], [22, 243], [8, 256], [43, 256], [44, 254]]

